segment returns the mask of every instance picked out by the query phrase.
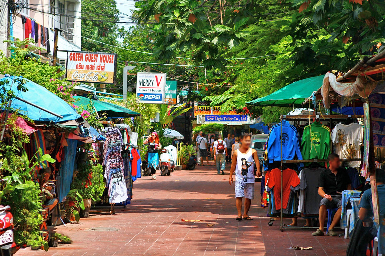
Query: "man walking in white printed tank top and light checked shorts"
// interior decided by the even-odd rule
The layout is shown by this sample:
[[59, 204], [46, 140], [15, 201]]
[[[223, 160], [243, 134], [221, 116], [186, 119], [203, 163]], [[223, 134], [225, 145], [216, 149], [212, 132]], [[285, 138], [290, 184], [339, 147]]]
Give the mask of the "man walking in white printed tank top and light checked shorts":
[[[251, 136], [244, 133], [241, 136], [241, 147], [234, 151], [233, 162], [231, 163], [229, 184], [233, 184], [235, 172], [235, 199], [238, 211], [237, 221], [242, 221], [242, 199], [244, 199], [243, 219], [251, 220], [248, 212], [251, 206], [251, 199], [254, 199], [254, 163], [259, 163], [258, 153], [250, 148]], [[261, 176], [259, 164], [256, 165], [256, 175]]]

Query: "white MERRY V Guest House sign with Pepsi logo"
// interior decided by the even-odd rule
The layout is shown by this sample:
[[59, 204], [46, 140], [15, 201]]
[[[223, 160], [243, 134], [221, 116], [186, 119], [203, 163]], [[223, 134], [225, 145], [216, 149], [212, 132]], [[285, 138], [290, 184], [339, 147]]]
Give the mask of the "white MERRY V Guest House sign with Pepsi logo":
[[162, 104], [166, 88], [166, 73], [137, 73], [136, 96], [138, 102]]

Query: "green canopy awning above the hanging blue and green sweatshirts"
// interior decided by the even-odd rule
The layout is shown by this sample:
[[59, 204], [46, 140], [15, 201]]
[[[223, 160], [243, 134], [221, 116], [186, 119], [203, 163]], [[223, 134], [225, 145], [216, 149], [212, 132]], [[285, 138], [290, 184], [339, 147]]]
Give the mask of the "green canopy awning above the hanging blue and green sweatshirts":
[[296, 81], [267, 96], [246, 102], [246, 104], [254, 106], [300, 107], [303, 101], [311, 96], [313, 91], [321, 88], [324, 76], [314, 76]]

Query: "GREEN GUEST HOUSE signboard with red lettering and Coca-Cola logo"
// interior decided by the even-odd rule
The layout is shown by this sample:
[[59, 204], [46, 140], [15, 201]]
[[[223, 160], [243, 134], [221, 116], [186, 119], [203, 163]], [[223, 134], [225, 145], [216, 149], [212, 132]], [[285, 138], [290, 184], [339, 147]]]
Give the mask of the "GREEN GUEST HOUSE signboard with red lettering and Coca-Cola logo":
[[67, 80], [114, 84], [116, 61], [116, 53], [67, 52]]

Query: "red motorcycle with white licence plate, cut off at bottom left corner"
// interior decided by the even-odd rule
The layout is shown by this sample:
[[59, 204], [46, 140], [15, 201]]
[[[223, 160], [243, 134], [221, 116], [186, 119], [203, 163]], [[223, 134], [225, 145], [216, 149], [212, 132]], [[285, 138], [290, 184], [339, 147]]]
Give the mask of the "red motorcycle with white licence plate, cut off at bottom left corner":
[[12, 256], [18, 250], [13, 241], [13, 216], [9, 210], [11, 206], [0, 205], [0, 251], [1, 256]]

